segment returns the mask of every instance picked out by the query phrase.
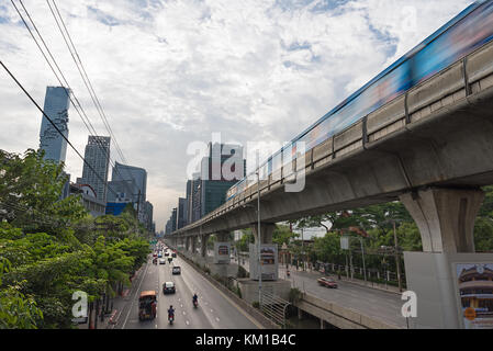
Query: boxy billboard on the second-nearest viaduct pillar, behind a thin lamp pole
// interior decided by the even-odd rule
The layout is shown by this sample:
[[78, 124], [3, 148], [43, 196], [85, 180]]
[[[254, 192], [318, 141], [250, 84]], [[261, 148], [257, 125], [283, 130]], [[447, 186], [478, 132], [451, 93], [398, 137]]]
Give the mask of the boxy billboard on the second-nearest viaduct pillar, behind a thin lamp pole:
[[279, 278], [277, 244], [262, 244], [260, 246], [260, 260], [258, 260], [257, 245], [250, 244], [249, 251], [250, 251], [250, 279], [258, 280], [260, 268], [262, 272], [262, 281], [277, 281]]

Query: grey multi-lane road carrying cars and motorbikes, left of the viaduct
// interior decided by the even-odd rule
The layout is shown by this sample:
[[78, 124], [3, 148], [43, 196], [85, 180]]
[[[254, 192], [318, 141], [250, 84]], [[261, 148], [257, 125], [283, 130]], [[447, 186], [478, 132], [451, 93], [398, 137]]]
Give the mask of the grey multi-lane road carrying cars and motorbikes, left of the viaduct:
[[[115, 329], [258, 329], [260, 324], [237, 306], [223, 292], [199, 274], [189, 263], [173, 258], [181, 267], [181, 274], [172, 274], [171, 267], [153, 264], [152, 259], [141, 269], [121, 309]], [[172, 281], [175, 294], [163, 293], [164, 282]], [[155, 319], [138, 320], [138, 296], [143, 291], [158, 292], [157, 316]], [[199, 296], [199, 307], [194, 308], [192, 296]], [[168, 322], [168, 308], [175, 308], [175, 322]]]

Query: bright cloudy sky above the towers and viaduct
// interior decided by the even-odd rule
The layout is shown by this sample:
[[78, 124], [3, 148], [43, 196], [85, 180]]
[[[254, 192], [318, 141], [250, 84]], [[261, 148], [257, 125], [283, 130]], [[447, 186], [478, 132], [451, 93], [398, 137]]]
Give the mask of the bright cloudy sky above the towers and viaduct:
[[[56, 1], [126, 160], [148, 172], [158, 230], [184, 195], [190, 143], [217, 132], [244, 145], [289, 140], [472, 2]], [[48, 4], [23, 3], [108, 135]], [[42, 106], [46, 86], [59, 86], [10, 0], [0, 0], [0, 59]], [[69, 116], [83, 154], [88, 131], [74, 109]], [[0, 148], [37, 148], [41, 121], [0, 71]], [[112, 159], [122, 161], [114, 148]], [[75, 181], [82, 161], [69, 149], [66, 163]]]

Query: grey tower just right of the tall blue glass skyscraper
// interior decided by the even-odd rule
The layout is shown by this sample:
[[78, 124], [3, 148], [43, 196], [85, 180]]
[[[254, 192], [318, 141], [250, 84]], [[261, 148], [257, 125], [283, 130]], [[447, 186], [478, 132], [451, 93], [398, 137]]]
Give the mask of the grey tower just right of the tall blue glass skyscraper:
[[108, 192], [108, 168], [110, 163], [110, 141], [109, 136], [89, 136], [88, 145], [83, 158], [85, 162], [82, 178], [77, 179], [78, 184], [89, 184], [96, 192], [99, 200], [107, 202]]

